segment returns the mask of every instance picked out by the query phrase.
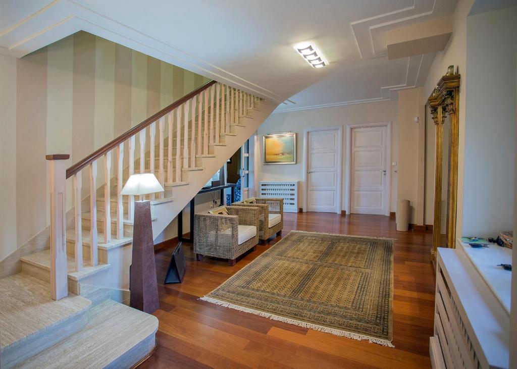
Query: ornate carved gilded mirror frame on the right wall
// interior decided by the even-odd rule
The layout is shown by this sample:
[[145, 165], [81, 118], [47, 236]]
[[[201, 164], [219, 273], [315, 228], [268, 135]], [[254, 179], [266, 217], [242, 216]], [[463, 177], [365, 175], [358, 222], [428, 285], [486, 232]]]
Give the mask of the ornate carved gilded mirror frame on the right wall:
[[[456, 208], [458, 195], [458, 113], [459, 113], [460, 74], [454, 73], [454, 66], [439, 81], [428, 99], [429, 108], [436, 131], [435, 179], [434, 179], [434, 222], [433, 222], [433, 260], [436, 248], [440, 246], [440, 222], [442, 219], [442, 160], [448, 160], [449, 180], [447, 183], [447, 247], [454, 248], [456, 235]], [[449, 137], [443, 137], [444, 121], [449, 116]], [[444, 141], [444, 138], [447, 140]], [[449, 145], [449, 157], [443, 158], [443, 145]]]

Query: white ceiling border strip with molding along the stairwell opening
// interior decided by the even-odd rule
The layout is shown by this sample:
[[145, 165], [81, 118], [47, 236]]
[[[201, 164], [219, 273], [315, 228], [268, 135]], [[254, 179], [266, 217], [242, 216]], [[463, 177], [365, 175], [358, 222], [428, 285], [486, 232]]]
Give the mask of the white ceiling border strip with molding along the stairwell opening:
[[163, 40], [104, 16], [78, 0], [54, 0], [1, 30], [0, 53], [22, 57], [80, 30], [277, 103], [290, 101]]

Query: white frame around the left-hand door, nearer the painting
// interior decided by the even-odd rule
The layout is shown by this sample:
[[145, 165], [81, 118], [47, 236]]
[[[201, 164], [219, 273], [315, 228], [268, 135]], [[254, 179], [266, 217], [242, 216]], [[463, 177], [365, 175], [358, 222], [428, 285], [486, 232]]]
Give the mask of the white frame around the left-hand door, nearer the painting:
[[343, 206], [343, 198], [342, 198], [342, 187], [343, 187], [343, 126], [334, 126], [334, 127], [317, 127], [317, 128], [307, 128], [303, 130], [303, 186], [302, 186], [302, 202], [303, 202], [303, 210], [309, 211], [309, 207], [307, 205], [307, 194], [308, 194], [308, 186], [307, 186], [307, 166], [309, 165], [309, 132], [319, 132], [319, 131], [338, 131], [338, 183], [337, 187], [337, 197], [338, 201], [336, 202], [336, 210], [335, 212], [341, 214], [341, 209]]

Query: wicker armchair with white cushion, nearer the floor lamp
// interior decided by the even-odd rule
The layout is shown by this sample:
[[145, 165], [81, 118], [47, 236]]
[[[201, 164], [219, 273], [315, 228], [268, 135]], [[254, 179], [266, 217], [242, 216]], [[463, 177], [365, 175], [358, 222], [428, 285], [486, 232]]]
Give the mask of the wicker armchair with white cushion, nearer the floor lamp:
[[[226, 206], [228, 215], [201, 211], [194, 214], [194, 252], [197, 260], [204, 255], [235, 259], [258, 243], [258, 209]], [[239, 242], [240, 241], [240, 242]]]

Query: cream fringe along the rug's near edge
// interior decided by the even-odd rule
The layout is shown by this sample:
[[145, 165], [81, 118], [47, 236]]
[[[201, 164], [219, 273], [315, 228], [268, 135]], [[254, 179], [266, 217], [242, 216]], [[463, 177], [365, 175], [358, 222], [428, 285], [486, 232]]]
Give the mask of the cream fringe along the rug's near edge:
[[395, 346], [393, 346], [391, 341], [388, 341], [388, 340], [378, 339], [378, 338], [375, 338], [375, 337], [370, 337], [370, 336], [363, 335], [363, 334], [358, 334], [358, 333], [346, 332], [346, 331], [342, 331], [342, 330], [339, 330], [339, 329], [323, 327], [323, 326], [319, 326], [317, 324], [308, 323], [308, 322], [305, 322], [305, 321], [285, 318], [283, 316], [278, 316], [278, 315], [275, 315], [275, 314], [265, 313], [265, 312], [259, 311], [259, 310], [245, 308], [244, 306], [235, 305], [235, 304], [232, 304], [230, 302], [225, 302], [225, 301], [217, 300], [217, 299], [214, 299], [214, 298], [211, 298], [211, 297], [208, 297], [208, 296], [200, 297], [200, 300], [206, 301], [206, 302], [210, 302], [212, 304], [220, 305], [220, 306], [223, 306], [224, 308], [230, 308], [230, 309], [238, 310], [238, 311], [241, 311], [241, 312], [262, 316], [264, 318], [269, 318], [271, 320], [281, 321], [281, 322], [284, 322], [284, 323], [287, 323], [287, 324], [292, 324], [292, 325], [295, 325], [295, 326], [298, 326], [298, 327], [302, 327], [302, 328], [309, 328], [309, 329], [313, 329], [315, 331], [320, 331], [320, 332], [324, 332], [324, 333], [330, 333], [330, 334], [333, 334], [333, 335], [337, 335], [337, 336], [341, 336], [341, 337], [345, 337], [345, 338], [349, 338], [349, 339], [353, 339], [353, 340], [357, 340], [357, 341], [368, 340], [369, 343], [376, 343], [376, 344], [382, 345], [382, 346], [395, 347]]

